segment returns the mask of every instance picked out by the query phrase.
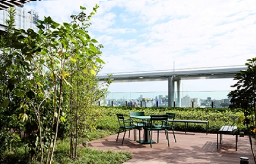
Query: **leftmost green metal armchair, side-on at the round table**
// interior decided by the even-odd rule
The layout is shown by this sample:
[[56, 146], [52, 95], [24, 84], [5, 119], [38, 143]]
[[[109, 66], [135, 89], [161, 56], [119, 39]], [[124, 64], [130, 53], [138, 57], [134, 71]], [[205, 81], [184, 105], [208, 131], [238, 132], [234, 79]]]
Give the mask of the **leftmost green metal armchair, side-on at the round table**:
[[[131, 129], [134, 129], [135, 126], [132, 125], [133, 122], [136, 122], [136, 121], [133, 121], [132, 119], [125, 119], [124, 118], [124, 114], [116, 114], [117, 115], [117, 118], [118, 118], [118, 122], [119, 122], [119, 132], [118, 132], [118, 135], [117, 135], [117, 139], [116, 139], [116, 142], [118, 141], [118, 137], [119, 137], [119, 133], [121, 132], [121, 129], [126, 133], [126, 129], [129, 129], [129, 138], [130, 138], [130, 131]], [[129, 124], [129, 125], [127, 125]], [[124, 134], [124, 138], [123, 138], [123, 141], [122, 141], [122, 144], [124, 143], [124, 139], [125, 139], [125, 134]]]

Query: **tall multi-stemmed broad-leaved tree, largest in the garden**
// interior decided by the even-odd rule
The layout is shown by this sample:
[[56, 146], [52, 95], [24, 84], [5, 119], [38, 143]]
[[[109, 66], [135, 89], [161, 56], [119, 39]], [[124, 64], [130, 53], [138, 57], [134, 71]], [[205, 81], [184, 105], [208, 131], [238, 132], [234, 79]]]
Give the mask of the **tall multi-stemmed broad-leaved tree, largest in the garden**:
[[[3, 55], [0, 108], [4, 111], [13, 109], [13, 114], [16, 114], [13, 118], [22, 123], [23, 126], [19, 125], [24, 127], [21, 131], [28, 135], [26, 145], [29, 147], [29, 162], [33, 161], [33, 157], [36, 159], [37, 153], [40, 152], [40, 163], [44, 162], [45, 154], [45, 162], [52, 163], [59, 125], [65, 124], [67, 116], [64, 102], [68, 100], [64, 100], [64, 89], [70, 87], [72, 91], [80, 84], [89, 84], [91, 88], [99, 86], [95, 83], [95, 75], [104, 63], [99, 57], [102, 46], [95, 46], [97, 41], [86, 31], [97, 8], [96, 4], [88, 16], [84, 11], [71, 15], [71, 23], [59, 24], [51, 17], [45, 17], [44, 20], [38, 21], [38, 33], [32, 29], [17, 31], [14, 29], [14, 22], [10, 22], [7, 29], [8, 38], [1, 39]], [[76, 69], [72, 69], [70, 63], [75, 64]], [[79, 79], [80, 75], [85, 75], [85, 79]], [[76, 79], [78, 83], [75, 82]], [[80, 91], [87, 90], [80, 90], [79, 87], [74, 89], [74, 93], [80, 94]], [[96, 87], [94, 91], [100, 93], [94, 95], [96, 92], [90, 92], [94, 94], [87, 95], [87, 100], [83, 99], [90, 105], [97, 97], [102, 97], [106, 90], [101, 92]], [[79, 98], [72, 98], [70, 102], [78, 102]], [[16, 107], [13, 108], [12, 104]], [[73, 112], [71, 118], [72, 116]], [[79, 120], [78, 110], [76, 120]], [[14, 122], [15, 120], [11, 120], [11, 123]], [[1, 130], [6, 130], [8, 126], [10, 125], [4, 125]], [[78, 126], [80, 125], [76, 123], [76, 129]], [[5, 143], [9, 142], [11, 141]]]

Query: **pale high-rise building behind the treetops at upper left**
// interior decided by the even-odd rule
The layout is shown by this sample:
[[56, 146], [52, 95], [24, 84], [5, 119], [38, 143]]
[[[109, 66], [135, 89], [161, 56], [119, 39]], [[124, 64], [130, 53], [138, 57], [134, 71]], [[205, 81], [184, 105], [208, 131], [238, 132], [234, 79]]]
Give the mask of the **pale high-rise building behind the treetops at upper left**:
[[[28, 28], [38, 32], [36, 21], [39, 19], [38, 12], [31, 10], [27, 12], [25, 9], [15, 6], [15, 28], [27, 30]], [[6, 19], [9, 19], [8, 10], [0, 10], [0, 31], [5, 30]]]

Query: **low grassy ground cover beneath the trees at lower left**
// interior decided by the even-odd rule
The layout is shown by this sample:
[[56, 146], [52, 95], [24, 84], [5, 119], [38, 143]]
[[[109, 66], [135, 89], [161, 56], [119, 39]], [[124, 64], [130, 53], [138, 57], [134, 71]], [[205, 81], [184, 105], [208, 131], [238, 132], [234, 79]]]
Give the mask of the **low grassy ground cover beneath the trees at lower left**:
[[[97, 135], [97, 132], [99, 133]], [[91, 138], [100, 138], [102, 136], [111, 134], [110, 132], [102, 132], [102, 130], [97, 130], [91, 133]], [[82, 140], [82, 139], [81, 139]], [[122, 164], [125, 161], [131, 159], [131, 154], [124, 151], [102, 151], [94, 150], [90, 148], [79, 147], [77, 152], [77, 160], [73, 161], [69, 158], [69, 140], [57, 141], [56, 149], [53, 156], [53, 164]], [[45, 155], [46, 157], [46, 155]], [[46, 159], [44, 159], [46, 161]], [[25, 158], [24, 148], [17, 148], [14, 152], [5, 152], [1, 164], [27, 164], [27, 159]], [[33, 164], [38, 164], [34, 162]]]

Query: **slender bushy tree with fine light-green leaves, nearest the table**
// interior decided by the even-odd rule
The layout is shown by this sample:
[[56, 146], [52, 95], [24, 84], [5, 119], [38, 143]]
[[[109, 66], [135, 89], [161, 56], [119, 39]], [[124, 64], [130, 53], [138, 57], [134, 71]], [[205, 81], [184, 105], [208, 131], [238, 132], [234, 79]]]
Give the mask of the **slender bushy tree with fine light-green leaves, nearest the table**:
[[105, 86], [111, 83], [109, 79], [99, 83], [96, 74], [89, 73], [89, 70], [95, 69], [98, 72], [101, 69], [101, 64], [95, 62], [98, 58], [99, 55], [92, 57], [93, 63], [77, 59], [70, 62], [70, 73], [76, 72], [81, 64], [88, 65], [87, 69], [75, 73], [73, 78], [67, 79], [72, 87], [65, 88], [66, 99], [69, 100], [66, 101], [66, 106], [69, 107], [70, 158], [73, 160], [76, 160], [77, 157], [78, 138], [87, 136], [86, 133], [96, 128], [96, 120], [101, 118], [101, 110], [97, 108], [95, 101], [105, 97], [107, 93]]

